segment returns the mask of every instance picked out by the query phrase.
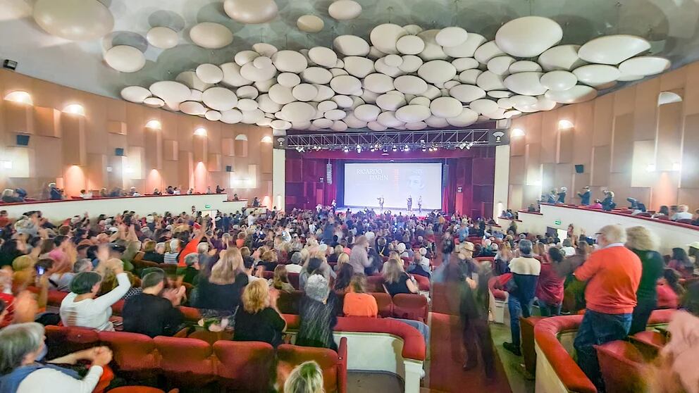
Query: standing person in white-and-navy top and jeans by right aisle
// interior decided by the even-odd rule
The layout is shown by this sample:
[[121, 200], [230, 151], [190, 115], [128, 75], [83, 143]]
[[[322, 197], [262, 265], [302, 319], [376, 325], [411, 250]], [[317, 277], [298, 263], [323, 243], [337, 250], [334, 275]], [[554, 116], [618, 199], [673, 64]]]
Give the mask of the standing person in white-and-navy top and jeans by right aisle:
[[536, 292], [536, 282], [541, 271], [541, 263], [532, 254], [532, 244], [529, 240], [519, 241], [519, 256], [509, 263], [516, 289], [509, 292], [507, 307], [509, 308], [509, 328], [512, 330], [512, 342], [505, 342], [502, 347], [516, 356], [521, 356], [519, 345], [519, 316], [531, 316], [531, 305]]

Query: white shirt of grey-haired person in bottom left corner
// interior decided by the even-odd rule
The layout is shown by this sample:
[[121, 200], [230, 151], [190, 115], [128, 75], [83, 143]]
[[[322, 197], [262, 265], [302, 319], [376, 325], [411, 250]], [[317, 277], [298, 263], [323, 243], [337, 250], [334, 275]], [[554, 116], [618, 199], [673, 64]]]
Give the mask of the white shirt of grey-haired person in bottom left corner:
[[101, 366], [92, 366], [82, 380], [51, 368], [41, 368], [27, 375], [17, 388], [17, 393], [90, 393], [102, 376]]

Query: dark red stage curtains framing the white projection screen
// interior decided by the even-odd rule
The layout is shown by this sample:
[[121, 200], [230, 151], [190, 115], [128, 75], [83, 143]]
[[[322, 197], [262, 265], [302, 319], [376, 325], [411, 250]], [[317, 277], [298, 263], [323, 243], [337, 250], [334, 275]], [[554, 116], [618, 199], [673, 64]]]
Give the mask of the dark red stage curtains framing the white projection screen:
[[[381, 151], [311, 151], [299, 154], [286, 152], [286, 206], [314, 208], [316, 204], [329, 205], [333, 199], [338, 206], [345, 204], [345, 163], [361, 161], [385, 161], [390, 163], [441, 162], [443, 186], [441, 208], [453, 213], [459, 211], [472, 217], [490, 218], [493, 212], [493, 184], [495, 180], [495, 148], [478, 147], [471, 150], [396, 151], [382, 156]], [[326, 168], [333, 168], [333, 182], [328, 184]], [[373, 198], [373, 191], [366, 191]], [[406, 196], [407, 197], [407, 196]], [[423, 196], [423, 201], [425, 196]], [[374, 199], [376, 200], [376, 199]], [[404, 206], [405, 200], [403, 199]], [[386, 205], [388, 206], [388, 204]], [[417, 208], [417, 196], [413, 195], [413, 207]]]

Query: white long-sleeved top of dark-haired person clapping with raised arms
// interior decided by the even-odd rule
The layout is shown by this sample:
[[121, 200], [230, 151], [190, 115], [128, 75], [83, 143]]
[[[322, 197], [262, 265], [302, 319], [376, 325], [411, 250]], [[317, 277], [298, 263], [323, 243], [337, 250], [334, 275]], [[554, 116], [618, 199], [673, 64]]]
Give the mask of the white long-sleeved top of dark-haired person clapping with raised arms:
[[64, 326], [81, 326], [97, 330], [114, 330], [109, 321], [111, 305], [121, 299], [131, 287], [126, 273], [116, 275], [119, 285], [111, 291], [95, 299], [75, 301], [77, 294], [70, 292], [61, 301], [61, 322]]

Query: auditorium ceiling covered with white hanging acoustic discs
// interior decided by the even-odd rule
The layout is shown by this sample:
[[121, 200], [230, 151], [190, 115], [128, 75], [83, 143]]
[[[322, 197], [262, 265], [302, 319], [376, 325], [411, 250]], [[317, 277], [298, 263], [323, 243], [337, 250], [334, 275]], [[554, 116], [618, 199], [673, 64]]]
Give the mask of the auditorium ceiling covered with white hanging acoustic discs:
[[278, 130], [466, 127], [699, 57], [698, 0], [3, 0], [0, 57]]

